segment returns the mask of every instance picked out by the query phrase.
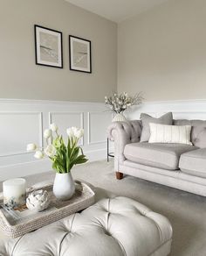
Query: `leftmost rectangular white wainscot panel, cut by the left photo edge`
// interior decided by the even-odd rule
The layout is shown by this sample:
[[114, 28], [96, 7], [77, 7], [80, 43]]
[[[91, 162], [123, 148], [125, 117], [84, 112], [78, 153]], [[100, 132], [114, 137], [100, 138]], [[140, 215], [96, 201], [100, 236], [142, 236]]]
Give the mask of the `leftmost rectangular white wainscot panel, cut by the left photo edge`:
[[0, 157], [26, 153], [29, 141], [42, 146], [41, 112], [0, 111], [0, 124]]

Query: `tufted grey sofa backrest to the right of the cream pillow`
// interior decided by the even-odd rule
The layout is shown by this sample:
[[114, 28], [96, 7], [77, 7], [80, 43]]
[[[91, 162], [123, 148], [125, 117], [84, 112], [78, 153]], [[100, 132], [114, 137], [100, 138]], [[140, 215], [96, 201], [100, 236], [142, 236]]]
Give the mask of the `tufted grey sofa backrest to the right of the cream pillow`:
[[175, 125], [191, 125], [191, 141], [194, 146], [206, 147], [206, 121], [204, 120], [174, 120]]

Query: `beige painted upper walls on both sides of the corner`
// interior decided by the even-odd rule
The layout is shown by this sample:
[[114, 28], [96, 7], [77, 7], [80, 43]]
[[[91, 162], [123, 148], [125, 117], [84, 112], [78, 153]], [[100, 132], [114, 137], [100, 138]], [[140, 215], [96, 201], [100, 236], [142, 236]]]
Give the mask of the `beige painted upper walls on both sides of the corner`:
[[[64, 69], [35, 65], [33, 25], [63, 32]], [[206, 1], [169, 0], [117, 25], [64, 0], [1, 0], [0, 98], [103, 102], [206, 98]], [[93, 73], [69, 70], [68, 35], [92, 40]], [[118, 45], [118, 73], [117, 73]]]

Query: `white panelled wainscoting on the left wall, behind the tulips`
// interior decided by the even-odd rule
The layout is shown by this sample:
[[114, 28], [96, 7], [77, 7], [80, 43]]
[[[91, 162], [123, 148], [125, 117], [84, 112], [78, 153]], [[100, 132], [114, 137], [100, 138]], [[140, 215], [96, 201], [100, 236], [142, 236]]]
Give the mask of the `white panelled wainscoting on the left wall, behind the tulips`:
[[[94, 110], [92, 127], [87, 117]], [[80, 145], [88, 159], [106, 160], [106, 128], [112, 118], [104, 103], [0, 99], [0, 181], [52, 169], [50, 160], [35, 160], [33, 153], [25, 150], [31, 142], [44, 146], [43, 132], [51, 122], [58, 124], [59, 121], [60, 132], [65, 132], [69, 126], [84, 128], [85, 135]], [[94, 139], [94, 144], [88, 143], [88, 134]]]

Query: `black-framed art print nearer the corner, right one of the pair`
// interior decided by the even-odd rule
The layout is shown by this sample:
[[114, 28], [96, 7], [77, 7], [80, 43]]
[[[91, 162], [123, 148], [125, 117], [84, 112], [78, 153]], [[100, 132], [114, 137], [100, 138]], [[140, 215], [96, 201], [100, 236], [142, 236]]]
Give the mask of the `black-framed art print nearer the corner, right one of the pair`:
[[91, 41], [69, 36], [70, 69], [92, 73]]

